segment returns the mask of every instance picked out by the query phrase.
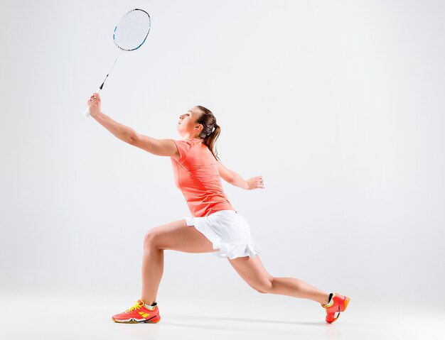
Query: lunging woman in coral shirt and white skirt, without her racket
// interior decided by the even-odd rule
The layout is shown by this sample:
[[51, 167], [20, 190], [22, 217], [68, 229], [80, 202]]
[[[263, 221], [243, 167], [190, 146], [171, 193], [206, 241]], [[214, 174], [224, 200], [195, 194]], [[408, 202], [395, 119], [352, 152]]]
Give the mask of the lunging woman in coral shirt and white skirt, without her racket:
[[348, 306], [349, 297], [328, 294], [296, 278], [275, 278], [262, 265], [250, 226], [230, 204], [220, 177], [246, 190], [264, 189], [264, 181], [262, 176], [243, 180], [219, 161], [215, 141], [221, 129], [211, 111], [194, 106], [181, 114], [176, 126], [181, 140], [156, 139], [117, 123], [102, 113], [100, 103], [99, 94], [92, 94], [88, 100], [90, 115], [114, 136], [154, 155], [171, 158], [175, 184], [183, 192], [192, 215], [146, 232], [141, 297], [134, 306], [114, 315], [114, 322], [161, 320], [156, 295], [163, 273], [163, 251], [167, 249], [227, 258], [254, 290], [316, 301], [326, 309], [326, 322], [336, 321]]

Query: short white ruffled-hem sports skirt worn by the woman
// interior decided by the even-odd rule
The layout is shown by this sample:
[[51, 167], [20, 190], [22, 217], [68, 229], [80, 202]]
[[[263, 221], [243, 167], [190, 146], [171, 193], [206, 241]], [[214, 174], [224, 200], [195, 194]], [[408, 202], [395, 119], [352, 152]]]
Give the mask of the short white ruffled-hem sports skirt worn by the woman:
[[250, 226], [243, 216], [234, 210], [220, 210], [203, 217], [185, 217], [188, 226], [195, 226], [210, 242], [210, 253], [219, 258], [251, 258], [261, 252], [261, 248], [250, 235]]

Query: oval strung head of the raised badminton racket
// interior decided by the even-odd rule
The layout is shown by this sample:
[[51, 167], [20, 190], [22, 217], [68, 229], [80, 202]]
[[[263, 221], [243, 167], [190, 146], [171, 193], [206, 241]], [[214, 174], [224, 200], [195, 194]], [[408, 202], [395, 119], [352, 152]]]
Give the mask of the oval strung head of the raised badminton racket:
[[125, 51], [137, 50], [145, 43], [151, 28], [149, 13], [143, 9], [132, 9], [122, 16], [114, 28], [114, 44]]

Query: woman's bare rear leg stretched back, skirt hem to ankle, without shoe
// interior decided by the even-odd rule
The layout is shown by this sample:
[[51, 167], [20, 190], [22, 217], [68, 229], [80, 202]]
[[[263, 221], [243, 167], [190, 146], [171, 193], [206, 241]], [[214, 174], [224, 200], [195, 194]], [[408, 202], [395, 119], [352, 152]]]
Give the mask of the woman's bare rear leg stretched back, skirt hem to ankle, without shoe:
[[229, 259], [229, 262], [241, 278], [258, 292], [301, 297], [323, 305], [328, 303], [329, 294], [327, 292], [323, 292], [323, 290], [319, 290], [304, 281], [297, 278], [274, 278], [267, 273], [258, 255], [253, 258], [247, 256], [234, 258], [233, 260]]

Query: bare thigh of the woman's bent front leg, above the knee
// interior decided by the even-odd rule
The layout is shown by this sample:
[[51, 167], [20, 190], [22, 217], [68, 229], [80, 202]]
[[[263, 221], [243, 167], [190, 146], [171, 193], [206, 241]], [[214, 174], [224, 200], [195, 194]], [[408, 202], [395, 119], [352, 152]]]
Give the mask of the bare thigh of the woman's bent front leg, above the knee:
[[212, 243], [194, 226], [188, 226], [185, 219], [163, 226], [156, 226], [146, 232], [144, 246], [156, 246], [159, 249], [183, 251], [186, 253], [210, 253]]

